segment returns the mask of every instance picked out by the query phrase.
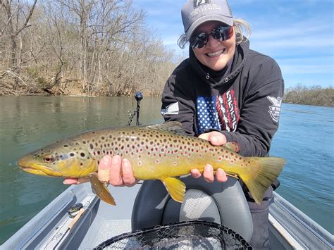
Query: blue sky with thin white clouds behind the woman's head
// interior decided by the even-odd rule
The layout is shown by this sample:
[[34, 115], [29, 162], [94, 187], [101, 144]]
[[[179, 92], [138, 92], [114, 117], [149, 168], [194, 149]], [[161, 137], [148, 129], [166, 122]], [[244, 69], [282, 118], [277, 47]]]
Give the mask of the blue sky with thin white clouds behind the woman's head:
[[[251, 49], [276, 59], [285, 87], [333, 87], [333, 0], [230, 0], [235, 18], [252, 26]], [[147, 11], [147, 24], [175, 53], [183, 34], [180, 9], [184, 0], [134, 0]]]

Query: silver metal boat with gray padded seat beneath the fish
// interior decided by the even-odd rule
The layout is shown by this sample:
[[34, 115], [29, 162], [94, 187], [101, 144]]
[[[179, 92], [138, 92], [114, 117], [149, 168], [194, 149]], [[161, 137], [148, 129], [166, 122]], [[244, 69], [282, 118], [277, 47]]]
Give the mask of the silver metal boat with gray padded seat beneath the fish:
[[[130, 121], [137, 114], [139, 125], [142, 96], [136, 95], [136, 99], [137, 113]], [[156, 225], [172, 227], [178, 222], [199, 220], [223, 225], [228, 229], [225, 232], [249, 241], [252, 218], [237, 179], [207, 183], [202, 177], [180, 178], [187, 187], [182, 204], [171, 199], [159, 180], [139, 182], [130, 188], [109, 185], [117, 206], [101, 201], [89, 182], [71, 185], [0, 249], [103, 249], [106, 242], [119, 239], [119, 235], [124, 238], [146, 228], [154, 230]], [[268, 220], [271, 249], [334, 249], [330, 232], [276, 192]]]

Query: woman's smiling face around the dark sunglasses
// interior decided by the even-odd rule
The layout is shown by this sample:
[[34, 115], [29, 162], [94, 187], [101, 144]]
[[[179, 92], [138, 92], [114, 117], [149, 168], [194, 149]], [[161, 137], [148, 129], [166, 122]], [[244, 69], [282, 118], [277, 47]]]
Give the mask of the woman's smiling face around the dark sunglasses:
[[[194, 35], [200, 32], [209, 34], [216, 27], [221, 25], [217, 21], [209, 21], [199, 25], [194, 31]], [[209, 35], [208, 42], [201, 49], [192, 49], [196, 58], [212, 70], [222, 70], [232, 60], [235, 53], [235, 32], [230, 39], [219, 41]]]

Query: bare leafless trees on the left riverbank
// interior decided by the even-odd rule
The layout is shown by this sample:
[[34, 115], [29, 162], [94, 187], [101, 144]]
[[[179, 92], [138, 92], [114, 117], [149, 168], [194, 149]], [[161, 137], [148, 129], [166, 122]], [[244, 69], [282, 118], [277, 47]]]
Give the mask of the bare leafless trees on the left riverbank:
[[179, 59], [146, 15], [130, 0], [0, 0], [0, 95], [160, 94]]

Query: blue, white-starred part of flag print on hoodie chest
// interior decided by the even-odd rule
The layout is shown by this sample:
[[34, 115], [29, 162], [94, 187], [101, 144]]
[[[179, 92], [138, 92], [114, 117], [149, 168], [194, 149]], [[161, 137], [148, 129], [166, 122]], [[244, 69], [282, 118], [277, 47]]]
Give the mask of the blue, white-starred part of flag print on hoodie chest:
[[216, 101], [218, 96], [197, 96], [197, 134], [206, 130], [221, 130]]

